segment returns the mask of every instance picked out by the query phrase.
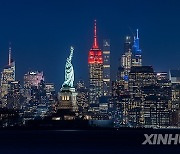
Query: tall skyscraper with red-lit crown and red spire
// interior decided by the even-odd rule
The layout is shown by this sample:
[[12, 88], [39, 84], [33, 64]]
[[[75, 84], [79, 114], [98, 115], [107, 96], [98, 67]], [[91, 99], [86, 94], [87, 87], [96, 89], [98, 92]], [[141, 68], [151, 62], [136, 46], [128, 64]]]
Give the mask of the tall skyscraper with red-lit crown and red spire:
[[97, 42], [96, 20], [94, 22], [94, 42], [88, 54], [89, 66], [89, 103], [90, 107], [99, 105], [103, 95], [103, 58]]

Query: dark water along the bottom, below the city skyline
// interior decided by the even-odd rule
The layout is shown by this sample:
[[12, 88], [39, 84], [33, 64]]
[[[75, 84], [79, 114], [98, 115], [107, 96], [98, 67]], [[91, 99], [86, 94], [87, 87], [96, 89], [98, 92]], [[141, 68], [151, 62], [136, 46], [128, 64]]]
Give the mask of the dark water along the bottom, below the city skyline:
[[144, 131], [3, 130], [0, 154], [180, 153], [179, 145], [141, 145]]

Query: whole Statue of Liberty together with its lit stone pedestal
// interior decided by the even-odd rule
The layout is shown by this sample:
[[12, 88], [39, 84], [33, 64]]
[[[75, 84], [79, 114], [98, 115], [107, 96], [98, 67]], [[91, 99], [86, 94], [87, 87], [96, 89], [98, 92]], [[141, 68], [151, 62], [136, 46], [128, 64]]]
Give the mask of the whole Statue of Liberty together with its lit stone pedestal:
[[57, 115], [63, 120], [73, 120], [78, 114], [78, 106], [76, 102], [77, 93], [73, 88], [74, 70], [71, 64], [74, 48], [71, 47], [71, 52], [66, 60], [65, 65], [65, 81], [58, 93]]

